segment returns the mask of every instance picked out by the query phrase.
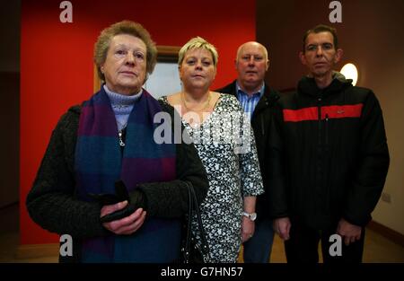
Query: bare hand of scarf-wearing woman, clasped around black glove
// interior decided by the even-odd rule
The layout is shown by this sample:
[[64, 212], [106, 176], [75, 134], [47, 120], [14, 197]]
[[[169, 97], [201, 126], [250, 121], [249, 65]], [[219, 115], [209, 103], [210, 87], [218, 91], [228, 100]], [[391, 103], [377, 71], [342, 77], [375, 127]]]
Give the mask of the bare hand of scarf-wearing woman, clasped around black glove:
[[[100, 217], [116, 212], [126, 206], [127, 201], [119, 202], [114, 205], [102, 206]], [[102, 225], [112, 233], [129, 235], [135, 233], [140, 226], [142, 226], [142, 224], [145, 222], [145, 215], [146, 212], [143, 210], [143, 208], [138, 208], [132, 215], [128, 215], [127, 217], [112, 221], [110, 223], [103, 223]]]

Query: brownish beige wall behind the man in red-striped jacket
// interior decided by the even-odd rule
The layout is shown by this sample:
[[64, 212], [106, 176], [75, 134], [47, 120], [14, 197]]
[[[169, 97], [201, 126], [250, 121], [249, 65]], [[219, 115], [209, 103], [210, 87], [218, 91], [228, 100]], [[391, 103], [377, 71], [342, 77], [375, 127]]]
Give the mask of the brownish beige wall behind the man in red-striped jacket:
[[269, 48], [267, 81], [277, 89], [293, 88], [305, 73], [297, 54], [303, 32], [318, 23], [338, 29], [344, 58], [354, 62], [357, 85], [371, 88], [382, 105], [391, 167], [384, 192], [391, 203], [379, 201], [373, 220], [404, 234], [404, 1], [340, 1], [342, 22], [329, 22], [324, 0], [257, 1], [257, 40]]

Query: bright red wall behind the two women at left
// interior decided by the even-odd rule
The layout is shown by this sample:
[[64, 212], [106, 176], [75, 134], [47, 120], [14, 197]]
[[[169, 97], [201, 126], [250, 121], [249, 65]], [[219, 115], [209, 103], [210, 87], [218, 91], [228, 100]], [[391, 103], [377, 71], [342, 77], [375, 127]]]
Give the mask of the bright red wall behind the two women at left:
[[92, 94], [92, 48], [113, 22], [142, 23], [158, 45], [182, 46], [201, 36], [219, 52], [213, 88], [232, 81], [233, 59], [246, 40], [255, 40], [255, 1], [154, 0], [78, 1], [73, 23], [59, 22], [60, 0], [22, 0], [21, 40], [21, 243], [56, 242], [34, 224], [25, 198], [57, 119], [69, 106]]

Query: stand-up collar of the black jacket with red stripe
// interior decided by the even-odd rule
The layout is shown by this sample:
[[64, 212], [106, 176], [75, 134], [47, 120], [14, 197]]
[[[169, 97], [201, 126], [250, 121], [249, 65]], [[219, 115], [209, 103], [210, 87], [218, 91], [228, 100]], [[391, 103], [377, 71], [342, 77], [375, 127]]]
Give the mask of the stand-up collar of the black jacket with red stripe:
[[346, 79], [344, 75], [338, 72], [333, 72], [332, 77], [329, 86], [320, 89], [314, 78], [304, 76], [297, 84], [298, 92], [302, 92], [314, 98], [325, 98], [333, 93], [341, 92], [347, 87], [352, 86], [352, 80]]

